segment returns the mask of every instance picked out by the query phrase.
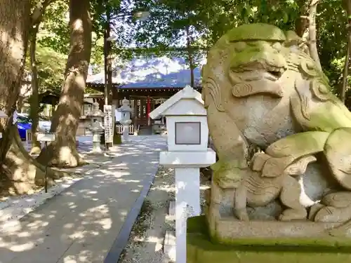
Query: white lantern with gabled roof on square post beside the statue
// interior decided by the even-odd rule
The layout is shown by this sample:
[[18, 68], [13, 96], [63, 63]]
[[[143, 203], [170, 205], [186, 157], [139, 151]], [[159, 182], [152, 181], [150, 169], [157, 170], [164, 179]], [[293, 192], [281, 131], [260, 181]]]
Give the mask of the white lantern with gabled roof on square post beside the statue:
[[159, 156], [161, 165], [176, 173], [176, 262], [186, 262], [187, 217], [201, 215], [200, 169], [216, 163], [208, 148], [206, 109], [201, 94], [190, 86], [170, 97], [150, 113], [166, 116], [168, 151]]

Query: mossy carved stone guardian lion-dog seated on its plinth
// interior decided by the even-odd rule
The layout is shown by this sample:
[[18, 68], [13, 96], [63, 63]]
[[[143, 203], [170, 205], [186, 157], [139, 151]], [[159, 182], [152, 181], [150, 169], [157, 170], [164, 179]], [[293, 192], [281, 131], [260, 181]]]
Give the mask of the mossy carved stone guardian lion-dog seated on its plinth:
[[[233, 189], [239, 220], [269, 205], [278, 220], [351, 219], [351, 114], [307, 50], [293, 32], [250, 24], [208, 53], [203, 98], [219, 158], [208, 203], [220, 205], [215, 187]], [[250, 147], [261, 151], [251, 158]]]

